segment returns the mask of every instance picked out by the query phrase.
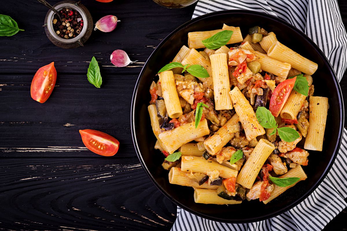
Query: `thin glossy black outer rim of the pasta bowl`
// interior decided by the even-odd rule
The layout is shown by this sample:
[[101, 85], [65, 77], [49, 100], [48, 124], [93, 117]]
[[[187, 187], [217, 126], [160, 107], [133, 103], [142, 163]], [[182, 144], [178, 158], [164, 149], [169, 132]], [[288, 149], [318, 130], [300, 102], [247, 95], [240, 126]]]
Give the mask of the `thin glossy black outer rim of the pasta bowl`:
[[[260, 215], [257, 218], [253, 218], [253, 219], [247, 219], [247, 217], [243, 220], [225, 220], [225, 219], [218, 219], [217, 217], [213, 217], [207, 214], [203, 214], [197, 211], [192, 210], [191, 208], [185, 206], [184, 204], [180, 203], [179, 201], [177, 201], [176, 199], [170, 197], [166, 191], [161, 188], [158, 183], [156, 183], [156, 181], [154, 180], [153, 176], [151, 175], [151, 172], [149, 171], [149, 169], [147, 168], [147, 166], [144, 163], [144, 160], [142, 158], [141, 155], [141, 151], [139, 150], [138, 144], [137, 144], [137, 139], [135, 136], [135, 101], [136, 101], [136, 96], [137, 96], [137, 91], [138, 91], [138, 86], [139, 86], [139, 81], [142, 79], [143, 74], [145, 72], [145, 69], [148, 66], [149, 61], [152, 59], [152, 56], [156, 53], [157, 50], [160, 49], [160, 47], [171, 37], [173, 36], [175, 33], [177, 33], [179, 30], [185, 28], [186, 26], [189, 26], [193, 23], [196, 23], [197, 21], [200, 21], [202, 19], [206, 19], [209, 17], [213, 17], [215, 15], [225, 15], [225, 14], [232, 14], [232, 13], [243, 13], [243, 14], [249, 14], [249, 15], [262, 15], [263, 17], [267, 17], [270, 19], [274, 19], [276, 21], [278, 21], [278, 23], [282, 23], [285, 24], [288, 27], [291, 27], [292, 29], [295, 29], [298, 31], [299, 34], [301, 34], [301, 36], [303, 36], [309, 43], [311, 43], [311, 45], [315, 48], [315, 50], [320, 54], [320, 56], [322, 57], [322, 59], [325, 61], [325, 63], [327, 63], [327, 67], [330, 70], [330, 72], [332, 73], [332, 77], [333, 77], [333, 81], [334, 84], [336, 85], [337, 88], [337, 93], [338, 93], [338, 100], [339, 100], [339, 113], [340, 113], [340, 123], [339, 123], [339, 134], [338, 134], [338, 138], [337, 138], [337, 143], [335, 145], [335, 149], [333, 150], [333, 155], [328, 163], [328, 167], [324, 169], [323, 174], [320, 176], [320, 178], [318, 179], [318, 181], [316, 181], [316, 183], [309, 189], [307, 190], [300, 198], [298, 198], [296, 201], [292, 202], [289, 206], [285, 206], [283, 208], [281, 208], [280, 210], [276, 211], [276, 212], [272, 212], [266, 215]], [[134, 93], [133, 93], [133, 98], [132, 98], [132, 105], [131, 105], [131, 112], [130, 112], [130, 125], [131, 125], [131, 132], [132, 132], [132, 137], [133, 137], [133, 143], [134, 143], [134, 147], [135, 147], [135, 152], [137, 154], [137, 157], [139, 158], [142, 167], [144, 168], [146, 174], [149, 176], [149, 178], [151, 179], [152, 183], [158, 188], [158, 190], [164, 194], [168, 199], [170, 199], [170, 201], [172, 201], [174, 204], [176, 204], [177, 206], [183, 208], [184, 210], [200, 216], [202, 218], [205, 219], [209, 219], [212, 221], [217, 221], [217, 222], [224, 222], [224, 223], [251, 223], [251, 222], [257, 222], [257, 221], [262, 221], [262, 220], [266, 220], [266, 219], [270, 219], [274, 216], [278, 216], [282, 213], [287, 212], [288, 210], [290, 210], [291, 208], [297, 206], [299, 203], [303, 202], [308, 196], [310, 196], [313, 191], [321, 184], [321, 182], [323, 181], [323, 179], [327, 176], [329, 170], [331, 169], [333, 163], [335, 162], [335, 159], [337, 157], [338, 154], [338, 150], [340, 149], [340, 145], [341, 145], [341, 141], [342, 141], [342, 135], [343, 135], [343, 131], [344, 131], [344, 103], [343, 103], [343, 98], [342, 98], [342, 92], [341, 92], [341, 88], [339, 85], [339, 80], [336, 77], [336, 73], [333, 70], [329, 60], [327, 59], [327, 57], [324, 55], [324, 53], [321, 51], [321, 49], [318, 47], [317, 44], [315, 44], [311, 38], [309, 38], [306, 34], [302, 33], [300, 30], [298, 30], [296, 27], [294, 27], [293, 25], [287, 23], [286, 21], [266, 14], [266, 13], [261, 13], [261, 12], [256, 12], [256, 11], [252, 11], [252, 10], [222, 10], [222, 11], [215, 11], [215, 12], [211, 12], [209, 14], [205, 14], [199, 17], [196, 17], [194, 19], [191, 19], [189, 21], [187, 21], [186, 23], [180, 25], [179, 27], [177, 27], [175, 30], [173, 30], [169, 35], [167, 35], [159, 44], [158, 46], [154, 49], [154, 51], [152, 52], [152, 54], [148, 57], [146, 63], [144, 64], [141, 72], [138, 75], [136, 84], [135, 84], [135, 89], [134, 89]]]

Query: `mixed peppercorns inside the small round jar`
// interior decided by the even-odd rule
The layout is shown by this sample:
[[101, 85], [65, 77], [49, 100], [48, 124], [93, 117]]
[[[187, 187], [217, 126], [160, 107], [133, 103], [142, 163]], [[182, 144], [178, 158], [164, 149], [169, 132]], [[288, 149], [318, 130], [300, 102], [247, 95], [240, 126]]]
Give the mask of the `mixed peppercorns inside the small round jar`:
[[53, 17], [53, 29], [59, 37], [70, 39], [74, 38], [81, 33], [83, 28], [83, 19], [77, 10], [62, 8], [60, 11], [59, 19], [57, 14]]

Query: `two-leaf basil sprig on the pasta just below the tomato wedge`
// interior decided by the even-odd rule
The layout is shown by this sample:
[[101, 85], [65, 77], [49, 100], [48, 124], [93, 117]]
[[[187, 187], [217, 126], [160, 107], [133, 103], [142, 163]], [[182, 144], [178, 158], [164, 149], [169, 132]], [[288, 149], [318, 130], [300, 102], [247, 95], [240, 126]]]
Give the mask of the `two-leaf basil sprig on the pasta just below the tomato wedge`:
[[275, 117], [265, 107], [258, 107], [255, 115], [261, 126], [264, 128], [274, 128], [270, 135], [278, 131], [280, 138], [286, 142], [293, 142], [300, 137], [299, 133], [291, 127], [278, 127]]

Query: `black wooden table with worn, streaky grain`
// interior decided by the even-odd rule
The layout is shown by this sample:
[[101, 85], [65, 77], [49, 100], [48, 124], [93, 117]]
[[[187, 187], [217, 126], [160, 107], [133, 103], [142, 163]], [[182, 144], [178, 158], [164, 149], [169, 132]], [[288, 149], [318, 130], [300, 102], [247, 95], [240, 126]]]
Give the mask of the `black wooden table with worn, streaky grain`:
[[[57, 0], [50, 0], [52, 5]], [[94, 23], [105, 15], [121, 22], [95, 31], [85, 47], [54, 46], [42, 27], [47, 9], [35, 0], [1, 1], [25, 32], [0, 37], [0, 230], [169, 230], [176, 206], [151, 183], [134, 151], [130, 104], [144, 62], [166, 35], [192, 17], [194, 6], [166, 9], [151, 0], [84, 0]], [[347, 0], [339, 1], [347, 24]], [[125, 50], [125, 68], [110, 63]], [[86, 77], [99, 61], [100, 89]], [[48, 101], [30, 97], [38, 68], [54, 61], [58, 79]], [[344, 96], [347, 76], [341, 82]], [[116, 137], [120, 150], [101, 157], [85, 148], [79, 129]], [[344, 230], [346, 210], [326, 230]]]

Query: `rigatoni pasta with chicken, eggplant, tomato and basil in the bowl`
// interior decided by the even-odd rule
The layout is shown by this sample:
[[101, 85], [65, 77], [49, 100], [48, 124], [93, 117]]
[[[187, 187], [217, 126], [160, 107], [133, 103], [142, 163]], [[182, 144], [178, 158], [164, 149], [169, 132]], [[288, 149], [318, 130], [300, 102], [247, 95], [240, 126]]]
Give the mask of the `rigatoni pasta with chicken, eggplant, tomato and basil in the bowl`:
[[196, 203], [267, 204], [307, 178], [329, 107], [313, 96], [318, 64], [264, 28], [243, 37], [225, 24], [188, 33], [169, 61], [148, 111], [171, 184], [193, 187]]

